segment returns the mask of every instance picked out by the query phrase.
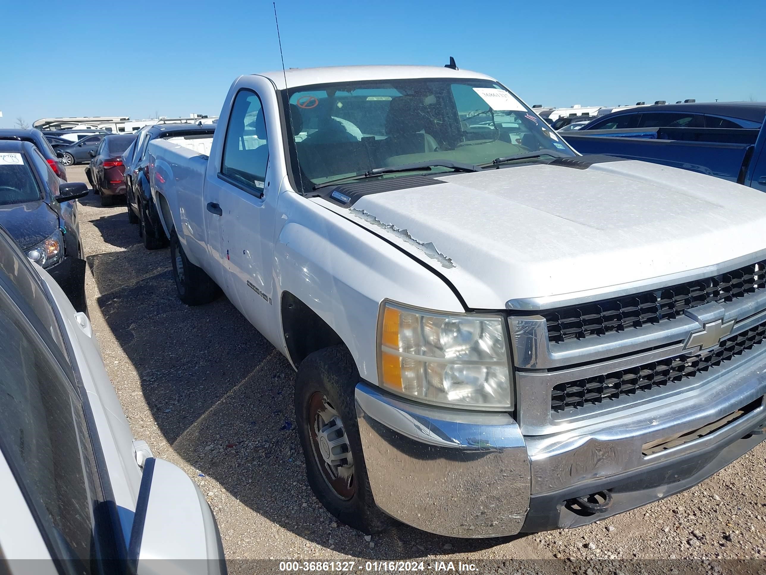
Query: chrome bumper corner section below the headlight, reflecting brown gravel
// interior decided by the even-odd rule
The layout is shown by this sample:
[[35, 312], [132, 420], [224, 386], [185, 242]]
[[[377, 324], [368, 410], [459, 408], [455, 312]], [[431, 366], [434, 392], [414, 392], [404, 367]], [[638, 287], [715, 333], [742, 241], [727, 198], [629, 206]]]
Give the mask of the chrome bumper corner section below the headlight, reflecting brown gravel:
[[355, 396], [379, 508], [450, 537], [519, 532], [529, 507], [529, 458], [511, 416], [422, 406], [365, 383]]

